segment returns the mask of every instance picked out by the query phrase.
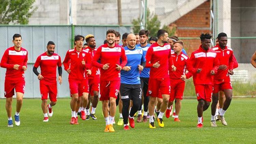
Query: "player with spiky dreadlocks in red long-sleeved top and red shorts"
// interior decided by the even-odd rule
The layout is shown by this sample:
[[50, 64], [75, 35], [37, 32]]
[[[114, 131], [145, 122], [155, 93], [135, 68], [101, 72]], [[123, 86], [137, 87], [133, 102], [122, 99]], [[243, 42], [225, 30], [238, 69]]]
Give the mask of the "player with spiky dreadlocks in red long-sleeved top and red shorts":
[[203, 127], [203, 111], [208, 109], [212, 100], [213, 75], [217, 73], [219, 65], [216, 52], [210, 49], [211, 38], [212, 35], [209, 33], [200, 35], [201, 45], [191, 54], [187, 67], [188, 71], [193, 74], [198, 100], [198, 128]]

